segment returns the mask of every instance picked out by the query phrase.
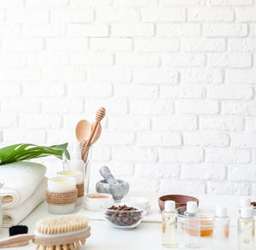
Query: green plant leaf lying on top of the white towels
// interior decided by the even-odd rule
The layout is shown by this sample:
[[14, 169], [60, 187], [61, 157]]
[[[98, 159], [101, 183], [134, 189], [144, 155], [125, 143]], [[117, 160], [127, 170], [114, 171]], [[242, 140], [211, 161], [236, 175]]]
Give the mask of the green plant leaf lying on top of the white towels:
[[0, 148], [0, 165], [19, 160], [30, 160], [39, 157], [54, 155], [62, 160], [63, 155], [70, 160], [67, 150], [68, 143], [53, 145], [50, 147], [38, 146], [29, 143], [20, 143], [5, 148]]

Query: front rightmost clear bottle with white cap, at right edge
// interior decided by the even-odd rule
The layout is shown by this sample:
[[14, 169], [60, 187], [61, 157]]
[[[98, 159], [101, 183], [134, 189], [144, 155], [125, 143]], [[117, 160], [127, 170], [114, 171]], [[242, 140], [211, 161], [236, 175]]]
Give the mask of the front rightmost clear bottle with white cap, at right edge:
[[252, 207], [241, 207], [238, 218], [238, 249], [254, 249], [254, 218]]

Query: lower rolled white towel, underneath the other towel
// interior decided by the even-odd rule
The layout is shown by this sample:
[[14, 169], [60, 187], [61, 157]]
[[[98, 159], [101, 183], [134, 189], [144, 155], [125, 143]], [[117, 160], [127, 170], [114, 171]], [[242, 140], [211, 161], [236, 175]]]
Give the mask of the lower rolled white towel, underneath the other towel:
[[32, 212], [32, 210], [37, 207], [42, 201], [44, 201], [46, 196], [47, 188], [47, 178], [39, 184], [38, 189], [20, 206], [3, 210], [3, 227], [11, 227], [14, 224], [19, 224], [20, 221]]

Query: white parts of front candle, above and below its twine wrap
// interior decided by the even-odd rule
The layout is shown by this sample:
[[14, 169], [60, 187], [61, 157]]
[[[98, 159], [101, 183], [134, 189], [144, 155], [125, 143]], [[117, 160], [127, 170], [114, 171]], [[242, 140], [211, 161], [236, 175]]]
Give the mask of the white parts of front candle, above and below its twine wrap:
[[[76, 189], [76, 180], [72, 177], [52, 177], [48, 179], [48, 191], [62, 193]], [[75, 211], [75, 203], [69, 205], [48, 204], [49, 212], [65, 214]]]

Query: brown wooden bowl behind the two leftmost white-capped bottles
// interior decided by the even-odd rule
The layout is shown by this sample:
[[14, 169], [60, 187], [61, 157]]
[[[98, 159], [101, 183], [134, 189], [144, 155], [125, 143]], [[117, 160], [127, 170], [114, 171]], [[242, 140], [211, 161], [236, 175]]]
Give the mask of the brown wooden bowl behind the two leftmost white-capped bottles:
[[180, 206], [186, 206], [188, 201], [196, 201], [197, 205], [199, 200], [193, 196], [188, 195], [164, 195], [158, 198], [158, 205], [160, 207], [160, 211], [163, 211], [165, 208], [165, 201], [175, 201], [176, 208]]

